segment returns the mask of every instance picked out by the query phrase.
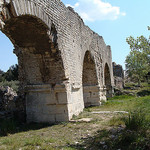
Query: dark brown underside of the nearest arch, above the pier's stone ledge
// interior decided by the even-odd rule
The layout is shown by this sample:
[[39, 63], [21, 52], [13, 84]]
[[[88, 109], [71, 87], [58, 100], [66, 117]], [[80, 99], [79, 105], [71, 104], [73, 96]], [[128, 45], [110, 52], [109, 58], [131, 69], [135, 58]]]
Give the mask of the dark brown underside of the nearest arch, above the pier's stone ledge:
[[[57, 31], [50, 34], [44, 23], [31, 16], [21, 16], [6, 22], [4, 32], [13, 41], [18, 56], [20, 80], [25, 85], [61, 84], [65, 77], [61, 53], [57, 47]], [[22, 77], [21, 77], [22, 76]]]

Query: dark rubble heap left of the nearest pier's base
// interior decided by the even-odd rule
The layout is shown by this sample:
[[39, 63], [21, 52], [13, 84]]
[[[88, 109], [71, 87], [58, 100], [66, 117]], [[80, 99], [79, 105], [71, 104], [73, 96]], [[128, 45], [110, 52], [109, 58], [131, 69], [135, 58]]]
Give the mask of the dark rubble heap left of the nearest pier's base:
[[0, 87], [0, 118], [20, 118], [25, 120], [24, 96], [17, 93], [9, 86]]

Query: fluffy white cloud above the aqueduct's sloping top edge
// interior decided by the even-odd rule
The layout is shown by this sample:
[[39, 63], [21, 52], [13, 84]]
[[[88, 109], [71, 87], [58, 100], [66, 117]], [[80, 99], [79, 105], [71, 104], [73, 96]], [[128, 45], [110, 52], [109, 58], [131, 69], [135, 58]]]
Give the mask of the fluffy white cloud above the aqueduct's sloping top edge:
[[[71, 6], [67, 4], [66, 6]], [[116, 20], [119, 16], [125, 16], [125, 12], [120, 12], [120, 7], [112, 6], [102, 0], [78, 0], [71, 6], [83, 18], [84, 21], [96, 20]]]

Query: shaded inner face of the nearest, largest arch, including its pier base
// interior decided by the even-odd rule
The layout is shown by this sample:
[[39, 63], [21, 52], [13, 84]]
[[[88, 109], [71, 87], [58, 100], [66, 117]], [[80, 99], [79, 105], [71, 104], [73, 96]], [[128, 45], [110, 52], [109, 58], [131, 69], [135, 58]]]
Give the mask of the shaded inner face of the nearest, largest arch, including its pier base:
[[3, 32], [18, 57], [20, 90], [26, 95], [28, 122], [68, 120], [65, 71], [55, 25], [24, 15], [6, 21]]

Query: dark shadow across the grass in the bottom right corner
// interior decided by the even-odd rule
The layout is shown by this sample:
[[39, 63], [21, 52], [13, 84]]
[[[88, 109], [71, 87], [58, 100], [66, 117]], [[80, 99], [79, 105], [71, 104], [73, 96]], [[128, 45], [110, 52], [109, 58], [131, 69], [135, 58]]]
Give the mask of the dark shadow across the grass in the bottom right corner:
[[145, 132], [112, 128], [99, 130], [95, 135], [68, 144], [60, 149], [77, 150], [150, 150], [150, 137]]

